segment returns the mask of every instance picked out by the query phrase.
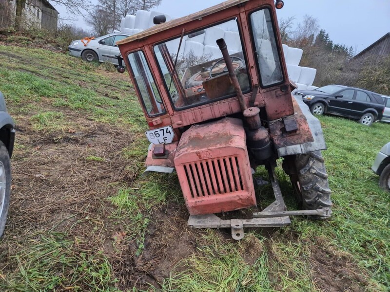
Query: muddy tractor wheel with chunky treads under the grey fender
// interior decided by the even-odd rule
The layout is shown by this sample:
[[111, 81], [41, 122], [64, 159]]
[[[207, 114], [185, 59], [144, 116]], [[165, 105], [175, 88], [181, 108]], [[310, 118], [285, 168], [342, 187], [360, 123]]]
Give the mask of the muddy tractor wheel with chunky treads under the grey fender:
[[[317, 210], [331, 207], [331, 190], [321, 151], [298, 154], [287, 161], [290, 161], [288, 174], [302, 209]], [[309, 218], [327, 219], [330, 214], [331, 212], [329, 216], [309, 216]]]

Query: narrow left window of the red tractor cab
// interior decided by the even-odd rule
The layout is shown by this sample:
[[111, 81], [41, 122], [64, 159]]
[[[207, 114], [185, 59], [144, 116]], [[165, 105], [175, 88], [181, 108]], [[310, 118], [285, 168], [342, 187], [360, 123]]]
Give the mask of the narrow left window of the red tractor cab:
[[165, 112], [156, 82], [153, 79], [145, 55], [142, 51], [129, 54], [130, 69], [135, 79], [135, 86], [142, 98], [148, 116], [156, 116]]

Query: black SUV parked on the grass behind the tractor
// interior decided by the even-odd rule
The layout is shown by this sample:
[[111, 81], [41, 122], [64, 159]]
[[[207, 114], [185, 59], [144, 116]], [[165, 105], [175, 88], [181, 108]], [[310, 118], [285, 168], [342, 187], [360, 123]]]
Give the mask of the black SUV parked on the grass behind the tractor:
[[382, 119], [385, 105], [380, 94], [344, 85], [327, 85], [315, 90], [296, 91], [312, 114], [331, 113], [359, 120], [370, 126]]

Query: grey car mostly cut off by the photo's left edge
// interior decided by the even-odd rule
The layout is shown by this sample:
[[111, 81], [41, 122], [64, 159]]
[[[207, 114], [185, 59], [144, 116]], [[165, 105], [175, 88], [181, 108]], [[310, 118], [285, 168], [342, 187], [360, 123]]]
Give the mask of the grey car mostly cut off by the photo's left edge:
[[0, 92], [0, 237], [7, 221], [11, 194], [11, 162], [14, 150], [15, 124], [8, 114], [5, 99]]

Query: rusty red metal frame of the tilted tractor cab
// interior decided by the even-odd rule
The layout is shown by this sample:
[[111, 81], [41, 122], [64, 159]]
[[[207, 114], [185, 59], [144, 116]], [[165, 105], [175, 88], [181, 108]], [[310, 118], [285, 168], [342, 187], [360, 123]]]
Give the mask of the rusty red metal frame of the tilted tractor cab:
[[[226, 3], [230, 4], [227, 5]], [[236, 97], [205, 106], [198, 106], [188, 110], [176, 111], [173, 108], [169, 98], [169, 92], [167, 92], [164, 88], [163, 78], [159, 75], [159, 69], [154, 58], [153, 46], [155, 46], [156, 43], [161, 43], [165, 40], [172, 39], [173, 37], [180, 37], [183, 29], [185, 29], [187, 32], [194, 31], [196, 29], [214, 24], [215, 22], [223, 21], [224, 19], [232, 19], [233, 17], [237, 17], [239, 32], [243, 42], [243, 52], [246, 56], [247, 70], [250, 75], [250, 83], [253, 88], [256, 88], [256, 85], [259, 83], [259, 73], [257, 72], [257, 66], [254, 65], [255, 52], [253, 51], [253, 40], [247, 18], [251, 12], [259, 9], [260, 6], [263, 6], [270, 7], [273, 18], [276, 19], [274, 3], [272, 0], [228, 1], [226, 3], [222, 3], [221, 6], [216, 6], [218, 8], [209, 9], [207, 16], [204, 16], [204, 14], [202, 14], [203, 12], [201, 12], [195, 18], [186, 18], [184, 22], [171, 21], [169, 22], [170, 29], [162, 29], [162, 26], [158, 25], [158, 28], [154, 27], [148, 32], [148, 37], [139, 38], [133, 42], [123, 41], [123, 43], [121, 43], [119, 46], [123, 56], [126, 56], [126, 54], [128, 54], [130, 51], [138, 49], [143, 49], [145, 51], [149, 66], [151, 67], [151, 72], [156, 79], [158, 90], [160, 91], [164, 106], [167, 110], [167, 114], [162, 117], [163, 123], [160, 126], [172, 125], [173, 128], [178, 128], [218, 117], [231, 115], [240, 111], [240, 105]], [[198, 18], [200, 15], [202, 15], [201, 19]], [[162, 25], [168, 25], [168, 23]], [[277, 28], [276, 21], [275, 28]], [[284, 63], [284, 55], [282, 54], [281, 39], [277, 33], [276, 36], [278, 50], [282, 60], [281, 64], [286, 79], [285, 83], [269, 89], [259, 89], [254, 98], [255, 106], [265, 108], [268, 120], [274, 120], [293, 114], [290, 91], [281, 90], [283, 86], [289, 85], [290, 83], [288, 81], [287, 69]], [[126, 66], [128, 67], [129, 64], [127, 58], [125, 57], [124, 60]], [[132, 80], [134, 81], [133, 78]], [[249, 99], [252, 98], [252, 94], [252, 92], [244, 94], [246, 106], [249, 106]], [[169, 116], [171, 117], [171, 121], [168, 120]], [[147, 120], [150, 121], [150, 118], [147, 117]], [[153, 128], [156, 127], [151, 127], [151, 129]]]

